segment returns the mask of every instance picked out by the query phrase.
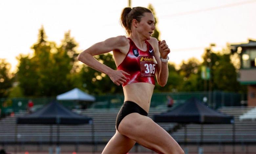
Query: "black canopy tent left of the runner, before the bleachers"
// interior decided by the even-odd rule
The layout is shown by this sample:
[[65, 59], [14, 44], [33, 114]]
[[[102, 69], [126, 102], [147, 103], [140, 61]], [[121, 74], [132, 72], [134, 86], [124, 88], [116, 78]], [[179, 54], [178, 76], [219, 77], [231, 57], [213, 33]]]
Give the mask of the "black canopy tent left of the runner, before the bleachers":
[[[94, 143], [94, 124], [93, 119], [76, 114], [61, 104], [53, 101], [42, 109], [24, 117], [17, 117], [16, 124], [46, 124], [50, 125], [50, 144], [52, 145], [52, 125], [57, 125], [57, 146], [59, 146], [59, 125], [92, 125], [92, 143]], [[15, 131], [15, 140], [17, 141], [17, 125]]]

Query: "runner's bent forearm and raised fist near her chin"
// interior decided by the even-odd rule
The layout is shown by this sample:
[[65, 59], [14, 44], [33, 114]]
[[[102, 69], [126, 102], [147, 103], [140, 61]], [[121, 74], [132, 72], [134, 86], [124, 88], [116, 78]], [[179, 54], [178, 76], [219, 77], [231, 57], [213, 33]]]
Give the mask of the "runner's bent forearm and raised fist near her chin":
[[160, 57], [162, 59], [167, 59], [170, 49], [168, 48], [165, 40], [157, 42], [157, 39], [153, 39], [153, 42], [155, 47], [155, 58], [157, 60], [157, 82], [161, 87], [164, 87], [168, 80], [168, 64], [167, 62], [163, 62], [164, 60], [161, 61]]

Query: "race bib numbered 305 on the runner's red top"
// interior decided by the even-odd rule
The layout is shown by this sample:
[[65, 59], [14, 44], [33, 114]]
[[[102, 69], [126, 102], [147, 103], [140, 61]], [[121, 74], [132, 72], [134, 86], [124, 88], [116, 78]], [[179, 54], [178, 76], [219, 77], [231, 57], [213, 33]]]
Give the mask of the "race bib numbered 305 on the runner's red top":
[[139, 56], [139, 64], [142, 77], [155, 76], [156, 60], [154, 56]]

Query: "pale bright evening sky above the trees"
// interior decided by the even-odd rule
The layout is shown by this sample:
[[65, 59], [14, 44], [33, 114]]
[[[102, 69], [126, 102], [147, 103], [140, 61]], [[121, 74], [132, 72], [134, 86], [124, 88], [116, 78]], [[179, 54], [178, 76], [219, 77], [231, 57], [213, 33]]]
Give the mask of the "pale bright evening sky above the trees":
[[[256, 39], [256, 0], [131, 0], [132, 7], [152, 4], [158, 19], [160, 40], [166, 40], [170, 62], [195, 57], [216, 44], [246, 43]], [[19, 54], [32, 54], [31, 47], [44, 27], [47, 41], [60, 45], [64, 33], [79, 44], [81, 52], [110, 37], [125, 35], [119, 23], [128, 0], [1, 0], [0, 58], [15, 72]]]

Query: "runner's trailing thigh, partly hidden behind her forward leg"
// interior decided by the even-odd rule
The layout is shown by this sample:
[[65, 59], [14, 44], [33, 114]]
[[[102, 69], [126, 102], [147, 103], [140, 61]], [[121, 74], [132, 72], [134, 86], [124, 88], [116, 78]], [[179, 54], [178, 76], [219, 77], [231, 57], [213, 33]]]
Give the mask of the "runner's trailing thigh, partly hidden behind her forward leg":
[[116, 131], [110, 139], [102, 154], [126, 154], [136, 142]]

